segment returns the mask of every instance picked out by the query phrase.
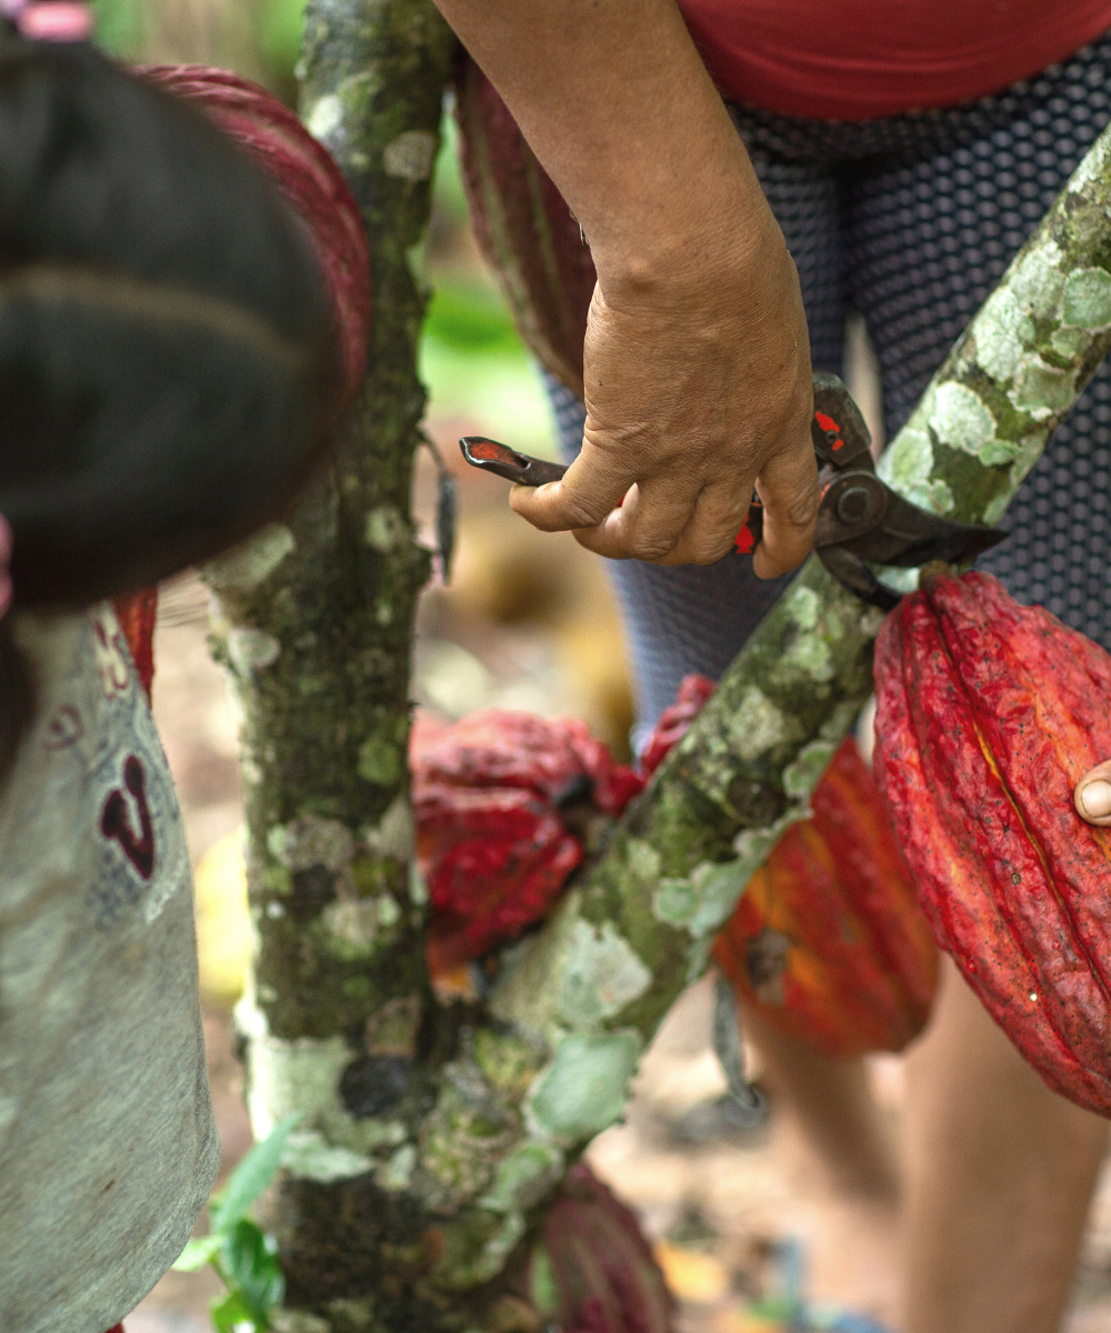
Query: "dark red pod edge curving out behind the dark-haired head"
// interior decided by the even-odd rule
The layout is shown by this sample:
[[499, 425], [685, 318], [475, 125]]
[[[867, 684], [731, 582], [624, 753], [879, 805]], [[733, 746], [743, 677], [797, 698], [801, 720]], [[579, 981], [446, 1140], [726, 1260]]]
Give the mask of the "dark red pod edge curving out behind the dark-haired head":
[[255, 159], [305, 224], [332, 297], [344, 397], [351, 397], [367, 360], [371, 261], [359, 205], [331, 153], [272, 93], [227, 69], [145, 65], [136, 72], [196, 103]]

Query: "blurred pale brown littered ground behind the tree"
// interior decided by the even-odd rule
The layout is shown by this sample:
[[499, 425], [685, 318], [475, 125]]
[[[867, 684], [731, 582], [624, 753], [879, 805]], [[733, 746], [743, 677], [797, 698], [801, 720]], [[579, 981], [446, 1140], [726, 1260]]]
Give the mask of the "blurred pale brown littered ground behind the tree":
[[[451, 423], [437, 432], [449, 444]], [[451, 456], [451, 455], [448, 455]], [[615, 744], [630, 701], [620, 635], [602, 575], [570, 541], [540, 539], [507, 516], [488, 479], [463, 481], [453, 591], [425, 595], [415, 649], [415, 694], [439, 712], [528, 708], [586, 717]], [[417, 500], [427, 512], [427, 483]], [[179, 784], [197, 864], [241, 822], [236, 721], [205, 649], [205, 593], [196, 580], [163, 597], [155, 714]], [[743, 1308], [802, 1260], [814, 1301], [882, 1310], [892, 1265], [886, 1218], [834, 1197], [780, 1108], [758, 1130], [723, 1125], [724, 1080], [710, 1045], [706, 982], [676, 1005], [648, 1052], [627, 1121], [603, 1134], [591, 1162], [640, 1213], [676, 1293], [684, 1333], [744, 1333]], [[251, 1141], [241, 1070], [225, 1002], [205, 1000], [216, 1118], [229, 1169]], [[895, 1132], [902, 1065], [878, 1058], [872, 1077]], [[128, 1333], [201, 1333], [219, 1282], [169, 1273], [127, 1320]], [[1111, 1170], [1095, 1200], [1068, 1333], [1111, 1333]]]

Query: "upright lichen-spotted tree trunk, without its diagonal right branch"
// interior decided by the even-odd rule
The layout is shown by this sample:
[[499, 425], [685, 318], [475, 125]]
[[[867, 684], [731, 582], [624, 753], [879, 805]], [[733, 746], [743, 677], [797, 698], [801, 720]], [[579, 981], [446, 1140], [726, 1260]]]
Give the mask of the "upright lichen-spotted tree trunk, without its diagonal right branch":
[[429, 572], [409, 517], [425, 300], [412, 256], [453, 49], [428, 0], [309, 0], [303, 112], [363, 209], [369, 373], [327, 477], [288, 524], [207, 571], [215, 651], [244, 714], [248, 1100], [256, 1133], [303, 1117], [273, 1204], [288, 1333], [437, 1326], [401, 1277], [432, 1266], [405, 1186], [415, 1126], [436, 1104], [407, 773], [412, 620]]

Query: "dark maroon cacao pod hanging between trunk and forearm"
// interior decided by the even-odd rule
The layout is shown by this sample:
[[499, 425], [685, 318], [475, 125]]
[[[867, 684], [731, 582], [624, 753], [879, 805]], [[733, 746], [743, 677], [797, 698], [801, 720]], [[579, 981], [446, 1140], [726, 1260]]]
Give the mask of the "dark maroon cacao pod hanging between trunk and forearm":
[[525, 345], [582, 399], [595, 272], [579, 224], [508, 107], [469, 59], [456, 79], [455, 105], [479, 247]]

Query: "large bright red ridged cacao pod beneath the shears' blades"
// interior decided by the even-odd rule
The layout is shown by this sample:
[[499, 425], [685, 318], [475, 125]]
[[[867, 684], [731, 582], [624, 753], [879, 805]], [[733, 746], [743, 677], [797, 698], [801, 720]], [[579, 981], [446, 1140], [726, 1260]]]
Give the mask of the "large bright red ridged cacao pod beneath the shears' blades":
[[1111, 1114], [1111, 657], [988, 575], [942, 575], [876, 643], [876, 774], [943, 949], [1056, 1092]]

